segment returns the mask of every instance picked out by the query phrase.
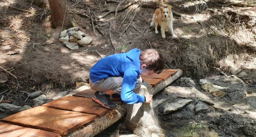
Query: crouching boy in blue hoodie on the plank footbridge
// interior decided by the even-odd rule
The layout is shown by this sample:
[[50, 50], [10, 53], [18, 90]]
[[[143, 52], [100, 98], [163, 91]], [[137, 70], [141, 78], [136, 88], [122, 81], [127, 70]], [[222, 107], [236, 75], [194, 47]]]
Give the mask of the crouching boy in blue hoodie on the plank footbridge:
[[89, 84], [95, 94], [92, 100], [105, 108], [116, 108], [117, 104], [109, 98], [121, 95], [127, 104], [150, 103], [151, 95], [135, 94], [141, 88], [141, 75], [150, 76], [161, 73], [164, 59], [155, 49], [140, 51], [132, 49], [100, 59], [90, 70]]

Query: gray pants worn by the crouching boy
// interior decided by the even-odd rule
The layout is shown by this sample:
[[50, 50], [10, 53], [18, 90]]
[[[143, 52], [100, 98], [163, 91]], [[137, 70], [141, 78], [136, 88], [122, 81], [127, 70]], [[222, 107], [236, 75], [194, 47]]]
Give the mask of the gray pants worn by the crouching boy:
[[[91, 89], [95, 91], [107, 91], [113, 90], [115, 93], [121, 94], [122, 90], [122, 80], [123, 77], [109, 77], [105, 79], [100, 79], [93, 83], [91, 79], [89, 79], [89, 84]], [[142, 78], [141, 76], [137, 77], [136, 85], [133, 89], [134, 93], [138, 93], [139, 89], [141, 88]]]

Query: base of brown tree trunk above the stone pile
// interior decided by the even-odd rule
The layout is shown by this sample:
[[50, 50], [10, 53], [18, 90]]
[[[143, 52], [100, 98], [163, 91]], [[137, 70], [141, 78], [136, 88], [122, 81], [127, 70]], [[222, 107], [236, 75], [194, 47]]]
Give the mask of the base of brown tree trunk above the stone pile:
[[[72, 26], [67, 5], [64, 0], [48, 0], [51, 9], [51, 20], [53, 27]], [[64, 19], [65, 18], [65, 19]]]

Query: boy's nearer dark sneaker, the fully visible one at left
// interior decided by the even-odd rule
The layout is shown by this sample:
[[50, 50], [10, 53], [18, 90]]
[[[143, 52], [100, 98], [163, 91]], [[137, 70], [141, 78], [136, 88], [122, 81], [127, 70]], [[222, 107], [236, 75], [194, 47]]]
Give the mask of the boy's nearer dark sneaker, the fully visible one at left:
[[117, 108], [117, 104], [111, 101], [109, 97], [110, 95], [108, 94], [99, 95], [99, 92], [96, 91], [94, 96], [91, 99], [93, 100], [93, 102], [99, 103], [104, 108], [110, 108], [110, 109]]

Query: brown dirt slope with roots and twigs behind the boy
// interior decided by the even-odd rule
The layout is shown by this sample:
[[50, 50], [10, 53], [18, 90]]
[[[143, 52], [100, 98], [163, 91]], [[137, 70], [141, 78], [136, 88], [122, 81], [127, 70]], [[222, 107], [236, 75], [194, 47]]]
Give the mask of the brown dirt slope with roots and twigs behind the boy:
[[[94, 25], [105, 34], [102, 36], [97, 30], [93, 31], [92, 18], [87, 16], [103, 16], [107, 12], [102, 9], [115, 9], [118, 3], [105, 3], [104, 0], [65, 2], [73, 26], [82, 28], [93, 38], [89, 46], [70, 50], [56, 39], [60, 30], [50, 25], [47, 3], [42, 8], [29, 0], [0, 0], [0, 66], [17, 77], [0, 71], [0, 81], [6, 81], [0, 83], [0, 93], [6, 91], [0, 94], [0, 97], [4, 95], [2, 100], [11, 99], [14, 105], [32, 106], [32, 101], [25, 101], [26, 93], [21, 91], [41, 90], [50, 95], [74, 89], [76, 82], [88, 83], [89, 70], [100, 59], [95, 50], [108, 56], [133, 48], [159, 50], [166, 59], [165, 68], [182, 69], [183, 77], [192, 78], [197, 85], [200, 78], [218, 76], [219, 72], [240, 74], [239, 78], [250, 88], [250, 93], [256, 93], [256, 7], [221, 4], [217, 0], [140, 0], [118, 12], [116, 17], [111, 13], [93, 19]], [[120, 7], [129, 2], [125, 0]], [[187, 15], [174, 14], [177, 38], [166, 32], [163, 39], [150, 27], [158, 5], [172, 5], [173, 11]], [[236, 98], [232, 99], [236, 101]], [[0, 116], [13, 113], [3, 112]], [[225, 117], [229, 116], [225, 114]], [[120, 123], [122, 120], [99, 136], [106, 133], [106, 136], [116, 136], [118, 133], [111, 133], [120, 132], [117, 130]], [[218, 124], [213, 121], [211, 126]], [[172, 133], [168, 135], [172, 136]]]

